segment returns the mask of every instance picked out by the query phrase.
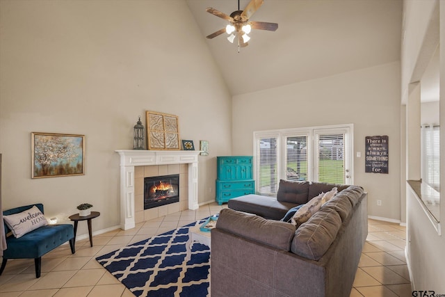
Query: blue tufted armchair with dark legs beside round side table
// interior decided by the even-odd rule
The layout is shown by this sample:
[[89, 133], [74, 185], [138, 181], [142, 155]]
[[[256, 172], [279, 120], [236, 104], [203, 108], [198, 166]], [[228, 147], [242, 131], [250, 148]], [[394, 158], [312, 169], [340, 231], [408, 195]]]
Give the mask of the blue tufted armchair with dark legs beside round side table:
[[[38, 207], [43, 212], [43, 204], [31, 204], [24, 207], [16, 207], [3, 211], [3, 216], [18, 214], [22, 211]], [[10, 232], [8, 225], [5, 225], [5, 233]], [[6, 237], [7, 248], [3, 251], [3, 262], [0, 267], [0, 275], [5, 269], [8, 259], [34, 259], [35, 278], [40, 278], [42, 268], [42, 256], [61, 244], [70, 241], [71, 252], [74, 254], [74, 230], [71, 224], [46, 225], [39, 227], [18, 239], [13, 234]]]

